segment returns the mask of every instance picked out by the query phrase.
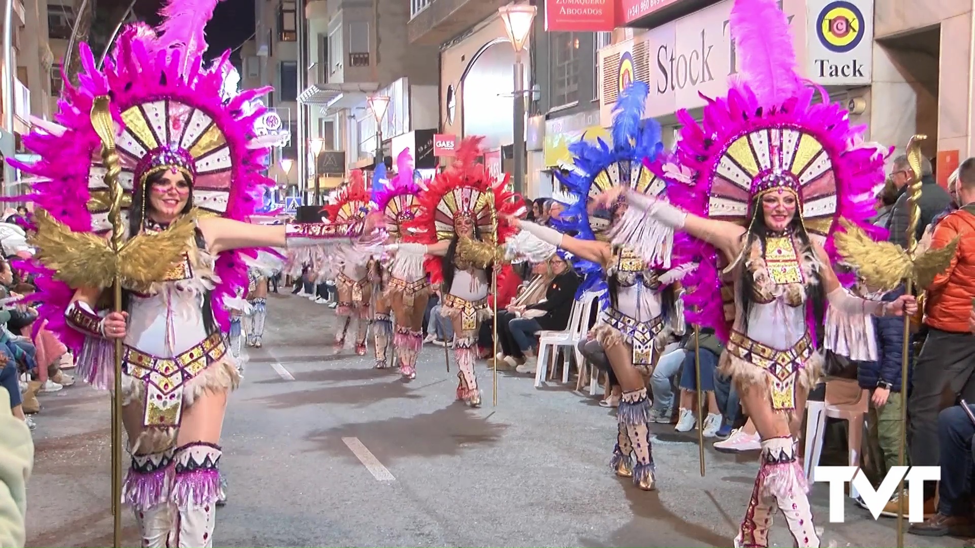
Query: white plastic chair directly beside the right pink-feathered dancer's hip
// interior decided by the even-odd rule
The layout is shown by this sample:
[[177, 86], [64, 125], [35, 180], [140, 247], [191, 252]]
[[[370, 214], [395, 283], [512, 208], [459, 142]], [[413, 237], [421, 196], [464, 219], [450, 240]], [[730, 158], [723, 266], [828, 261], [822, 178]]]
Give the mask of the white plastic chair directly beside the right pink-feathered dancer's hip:
[[[806, 402], [807, 412], [805, 423], [805, 462], [803, 471], [809, 483], [815, 481], [812, 471], [819, 464], [819, 457], [823, 452], [823, 435], [826, 432], [826, 418], [841, 418], [848, 422], [846, 445], [849, 447], [849, 466], [860, 466], [860, 450], [863, 444], [863, 430], [867, 424], [866, 416], [870, 406], [870, 390], [860, 391], [859, 398], [854, 402], [839, 404], [831, 403], [830, 386], [840, 389], [842, 384], [853, 383], [855, 380], [834, 379], [826, 383], [825, 402]], [[859, 388], [859, 385], [857, 385]], [[849, 392], [849, 390], [845, 390]], [[848, 398], [845, 398], [848, 399]], [[836, 400], [834, 397], [833, 400]], [[859, 473], [859, 471], [858, 471]], [[859, 493], [850, 484], [850, 498], [856, 498]]]

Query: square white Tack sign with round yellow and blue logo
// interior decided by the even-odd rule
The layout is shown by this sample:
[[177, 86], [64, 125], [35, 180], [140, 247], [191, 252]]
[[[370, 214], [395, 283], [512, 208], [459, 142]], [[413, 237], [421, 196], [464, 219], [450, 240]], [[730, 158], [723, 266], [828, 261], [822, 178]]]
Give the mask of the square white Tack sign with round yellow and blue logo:
[[806, 24], [806, 74], [811, 79], [824, 86], [871, 83], [873, 0], [808, 0]]

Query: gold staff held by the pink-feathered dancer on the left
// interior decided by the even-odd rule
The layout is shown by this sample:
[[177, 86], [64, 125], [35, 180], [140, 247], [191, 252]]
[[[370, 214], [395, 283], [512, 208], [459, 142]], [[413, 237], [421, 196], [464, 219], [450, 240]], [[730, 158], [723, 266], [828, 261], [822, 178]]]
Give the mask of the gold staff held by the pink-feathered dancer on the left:
[[[124, 189], [118, 182], [119, 157], [115, 152], [115, 124], [109, 110], [109, 98], [101, 96], [92, 106], [92, 127], [101, 139], [101, 159], [105, 166], [105, 185], [111, 206], [108, 221], [112, 225], [109, 246], [116, 255], [122, 249], [125, 227], [122, 223], [122, 198]], [[115, 269], [112, 281], [112, 310], [122, 312], [122, 280]], [[122, 546], [122, 339], [115, 339], [114, 386], [112, 393], [112, 545]]]

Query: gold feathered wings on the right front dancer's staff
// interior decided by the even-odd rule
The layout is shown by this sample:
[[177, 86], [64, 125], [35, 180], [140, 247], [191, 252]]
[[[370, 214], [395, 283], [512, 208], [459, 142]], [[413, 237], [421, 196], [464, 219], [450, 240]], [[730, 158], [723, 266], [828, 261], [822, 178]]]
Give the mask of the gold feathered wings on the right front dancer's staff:
[[951, 264], [958, 245], [956, 238], [944, 248], [927, 250], [912, 258], [897, 244], [874, 241], [863, 229], [846, 219], [840, 219], [839, 223], [845, 232], [834, 235], [837, 251], [868, 286], [880, 291], [891, 291], [908, 279], [914, 280], [918, 287], [926, 288]]

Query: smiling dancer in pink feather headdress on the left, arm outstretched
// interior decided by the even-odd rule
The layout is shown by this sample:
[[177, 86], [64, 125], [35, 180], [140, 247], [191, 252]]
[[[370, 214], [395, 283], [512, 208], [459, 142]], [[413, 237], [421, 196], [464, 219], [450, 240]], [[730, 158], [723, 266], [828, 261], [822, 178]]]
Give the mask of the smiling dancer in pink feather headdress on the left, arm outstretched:
[[[220, 428], [228, 392], [239, 382], [227, 351], [225, 303], [246, 287], [245, 257], [254, 254], [242, 249], [331, 249], [365, 230], [245, 222], [254, 214], [253, 196], [274, 182], [260, 174], [270, 151], [253, 137], [264, 108], [244, 114], [244, 105], [269, 90], [221, 97], [229, 52], [203, 61], [203, 27], [216, 1], [169, 2], [158, 36], [144, 24], [126, 27], [100, 70], [82, 44], [81, 84], [65, 85], [55, 122], [38, 122], [24, 137], [40, 159], [13, 162], [36, 177], [34, 244], [44, 266], [31, 268], [41, 321], [100, 389], [114, 383], [114, 340], [124, 342], [119, 397], [132, 466], [123, 496], [150, 548], [213, 545]], [[104, 161], [93, 112], [118, 136]], [[76, 266], [103, 257], [94, 235], [113, 230], [106, 173], [127, 194], [123, 312], [108, 312], [106, 295], [95, 289], [104, 287], [103, 271]], [[160, 256], [178, 259], [160, 267]], [[164, 279], [137, 282], [159, 270]], [[71, 286], [61, 281], [67, 279]]]

